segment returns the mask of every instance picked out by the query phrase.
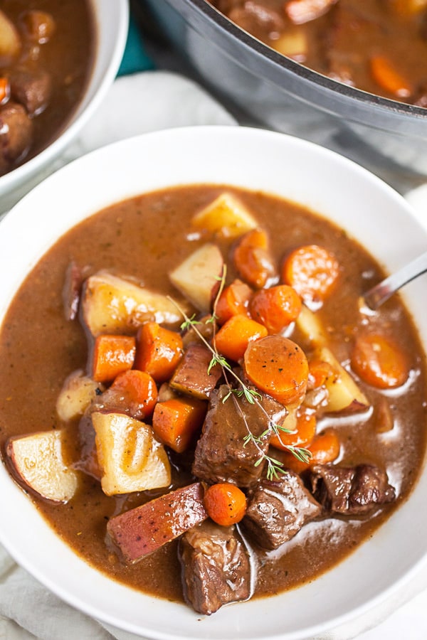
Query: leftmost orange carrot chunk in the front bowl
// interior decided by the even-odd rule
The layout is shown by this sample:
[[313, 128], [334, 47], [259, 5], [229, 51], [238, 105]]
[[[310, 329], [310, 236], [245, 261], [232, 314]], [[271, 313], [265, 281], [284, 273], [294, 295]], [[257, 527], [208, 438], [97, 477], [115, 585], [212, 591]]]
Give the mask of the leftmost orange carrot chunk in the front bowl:
[[116, 375], [132, 368], [135, 352], [133, 336], [97, 336], [92, 355], [93, 379], [102, 383], [114, 380]]

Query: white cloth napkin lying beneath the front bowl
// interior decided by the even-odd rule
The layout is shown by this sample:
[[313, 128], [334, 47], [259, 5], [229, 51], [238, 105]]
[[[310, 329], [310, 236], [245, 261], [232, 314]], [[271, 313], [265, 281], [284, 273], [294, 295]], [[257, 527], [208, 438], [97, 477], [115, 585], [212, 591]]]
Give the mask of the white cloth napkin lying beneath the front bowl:
[[[204, 90], [181, 75], [145, 71], [123, 76], [112, 85], [78, 139], [39, 179], [78, 156], [110, 142], [156, 129], [196, 124], [238, 123]], [[420, 219], [427, 226], [427, 186], [423, 191], [409, 194], [408, 200], [416, 206]], [[31, 544], [31, 538], [28, 544]], [[369, 615], [330, 631], [317, 640], [347, 640], [356, 636], [359, 640], [424, 639], [427, 637], [426, 588], [427, 576], [420, 575]], [[402, 602], [407, 604], [399, 609]], [[371, 627], [374, 628], [367, 631]], [[0, 545], [0, 639], [136, 638], [126, 631], [90, 619], [62, 602], [28, 575], [26, 570], [16, 565]]]

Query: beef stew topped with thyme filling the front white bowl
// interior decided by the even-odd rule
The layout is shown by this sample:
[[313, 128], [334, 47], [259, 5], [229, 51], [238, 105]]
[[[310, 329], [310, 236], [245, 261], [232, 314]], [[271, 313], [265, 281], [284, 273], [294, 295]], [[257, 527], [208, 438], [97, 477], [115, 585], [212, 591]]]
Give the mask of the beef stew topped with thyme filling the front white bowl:
[[[307, 277], [300, 287], [303, 247], [312, 255], [322, 247], [333, 282], [317, 263], [315, 288]], [[205, 260], [194, 260], [201, 250]], [[203, 274], [183, 277], [183, 265], [193, 275], [202, 265]], [[248, 265], [258, 286], [248, 284]], [[0, 335], [2, 457], [76, 553], [144, 592], [210, 614], [313, 580], [408, 498], [423, 462], [426, 368], [416, 331], [399, 297], [376, 314], [359, 306], [382, 275], [341, 229], [263, 193], [193, 186], [118, 203], [60, 239], [11, 305]], [[278, 291], [279, 304], [270, 295], [260, 304]], [[279, 317], [282, 329], [272, 329]], [[262, 321], [270, 329], [254, 334]], [[367, 334], [394, 345], [392, 366], [365, 356], [368, 370], [398, 363], [403, 378], [389, 378], [386, 390], [349, 364]], [[260, 361], [260, 346], [265, 354], [272, 344], [292, 376], [270, 375], [266, 390], [265, 378], [254, 378], [275, 368], [278, 353], [268, 367]], [[214, 362], [187, 356], [194, 346]], [[94, 358], [109, 350], [95, 379]], [[171, 353], [179, 364], [169, 369]], [[189, 374], [174, 388], [185, 358]], [[214, 368], [213, 387], [199, 385], [199, 373]], [[181, 425], [190, 430], [183, 448]], [[28, 484], [20, 463], [19, 447], [38, 452], [40, 433], [60, 471], [49, 495], [40, 478]], [[344, 484], [339, 503], [334, 487]], [[214, 525], [206, 495], [224, 485], [226, 507], [232, 486], [245, 511], [236, 522], [226, 508], [228, 524]], [[154, 547], [144, 547], [144, 535]]]

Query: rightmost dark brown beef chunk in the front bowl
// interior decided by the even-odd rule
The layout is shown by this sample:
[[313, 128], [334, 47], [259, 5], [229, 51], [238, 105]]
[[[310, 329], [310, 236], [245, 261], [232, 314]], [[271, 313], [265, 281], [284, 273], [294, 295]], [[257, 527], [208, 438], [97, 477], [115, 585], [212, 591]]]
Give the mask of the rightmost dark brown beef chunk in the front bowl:
[[396, 498], [385, 471], [370, 464], [355, 467], [316, 464], [310, 472], [312, 492], [326, 511], [363, 516]]

